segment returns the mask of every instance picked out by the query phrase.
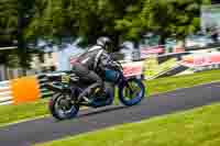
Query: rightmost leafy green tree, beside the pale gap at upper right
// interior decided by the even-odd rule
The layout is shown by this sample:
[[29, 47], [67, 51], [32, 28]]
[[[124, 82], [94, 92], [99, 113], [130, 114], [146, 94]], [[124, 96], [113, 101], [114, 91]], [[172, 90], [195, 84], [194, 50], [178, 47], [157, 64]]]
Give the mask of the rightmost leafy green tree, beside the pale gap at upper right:
[[146, 0], [140, 13], [145, 29], [161, 36], [184, 40], [200, 27], [200, 7], [210, 0]]

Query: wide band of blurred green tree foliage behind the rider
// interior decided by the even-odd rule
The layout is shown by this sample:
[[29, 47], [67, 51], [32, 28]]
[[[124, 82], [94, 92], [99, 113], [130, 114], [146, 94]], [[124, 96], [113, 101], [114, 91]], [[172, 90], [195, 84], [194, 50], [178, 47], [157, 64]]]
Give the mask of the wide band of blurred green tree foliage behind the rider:
[[80, 38], [95, 44], [109, 36], [116, 50], [124, 41], [135, 45], [146, 32], [183, 40], [199, 29], [200, 5], [209, 0], [21, 0], [25, 14], [25, 42], [38, 38], [61, 44], [64, 38]]

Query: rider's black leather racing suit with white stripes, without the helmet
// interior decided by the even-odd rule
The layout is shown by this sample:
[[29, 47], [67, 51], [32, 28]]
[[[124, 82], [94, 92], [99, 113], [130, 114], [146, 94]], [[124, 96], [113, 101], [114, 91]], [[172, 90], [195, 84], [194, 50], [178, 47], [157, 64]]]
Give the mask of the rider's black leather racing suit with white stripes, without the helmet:
[[97, 88], [103, 90], [102, 77], [110, 56], [101, 46], [94, 46], [94, 48], [81, 54], [73, 66], [73, 71], [80, 81], [90, 82], [88, 88], [79, 94], [79, 99], [89, 98], [89, 94]]

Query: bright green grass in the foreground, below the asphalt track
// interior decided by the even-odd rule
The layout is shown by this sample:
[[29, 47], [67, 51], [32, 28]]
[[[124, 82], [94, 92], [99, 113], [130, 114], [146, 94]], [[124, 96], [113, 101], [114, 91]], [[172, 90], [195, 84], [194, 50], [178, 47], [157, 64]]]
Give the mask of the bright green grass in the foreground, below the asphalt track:
[[219, 111], [208, 105], [37, 146], [219, 146]]

